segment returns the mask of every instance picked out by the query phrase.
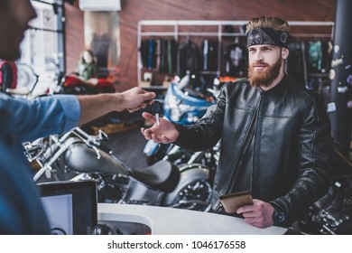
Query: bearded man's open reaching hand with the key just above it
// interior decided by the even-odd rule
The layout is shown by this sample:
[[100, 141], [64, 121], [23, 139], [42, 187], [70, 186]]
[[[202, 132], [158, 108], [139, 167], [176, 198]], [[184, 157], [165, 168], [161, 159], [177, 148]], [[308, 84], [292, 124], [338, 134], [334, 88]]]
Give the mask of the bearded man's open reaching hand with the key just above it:
[[150, 109], [152, 114], [144, 112], [142, 115], [145, 119], [154, 123], [150, 128], [141, 128], [145, 139], [164, 144], [174, 142], [179, 136], [179, 131], [169, 120], [162, 118], [162, 103], [153, 101]]

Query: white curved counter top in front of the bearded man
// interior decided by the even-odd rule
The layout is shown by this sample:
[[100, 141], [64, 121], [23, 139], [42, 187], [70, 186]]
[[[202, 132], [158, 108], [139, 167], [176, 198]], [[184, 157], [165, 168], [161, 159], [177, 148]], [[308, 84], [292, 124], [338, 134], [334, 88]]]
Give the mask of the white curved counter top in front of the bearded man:
[[275, 226], [258, 229], [243, 219], [215, 213], [115, 203], [98, 203], [97, 220], [142, 223], [153, 235], [280, 235], [286, 231]]

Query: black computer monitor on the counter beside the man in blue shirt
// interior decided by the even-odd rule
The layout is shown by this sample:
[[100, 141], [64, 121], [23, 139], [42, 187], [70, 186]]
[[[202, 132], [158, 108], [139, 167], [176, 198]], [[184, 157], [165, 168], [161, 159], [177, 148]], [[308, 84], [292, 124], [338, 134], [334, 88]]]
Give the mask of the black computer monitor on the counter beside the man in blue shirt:
[[51, 234], [91, 234], [97, 225], [97, 184], [93, 181], [38, 183]]

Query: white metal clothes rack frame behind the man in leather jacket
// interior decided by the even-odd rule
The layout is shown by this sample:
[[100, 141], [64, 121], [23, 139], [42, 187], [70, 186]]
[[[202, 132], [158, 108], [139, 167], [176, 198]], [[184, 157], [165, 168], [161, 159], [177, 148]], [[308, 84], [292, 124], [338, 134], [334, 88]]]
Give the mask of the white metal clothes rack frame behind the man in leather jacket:
[[[240, 31], [248, 21], [216, 21], [216, 20], [141, 20], [138, 23], [137, 30], [137, 43], [138, 49], [141, 49], [142, 41], [144, 37], [155, 37], [155, 38], [173, 38], [176, 42], [180, 42], [181, 37], [202, 37], [202, 38], [216, 38], [218, 42], [218, 68], [216, 74], [221, 75], [221, 60], [223, 56], [222, 46], [223, 41], [227, 37], [245, 37], [245, 33], [224, 33], [225, 26], [237, 27], [237, 31]], [[311, 27], [329, 27], [329, 33], [292, 33], [292, 36], [296, 37], [325, 37], [331, 38], [334, 33], [333, 22], [306, 22], [306, 21], [291, 21], [289, 22], [291, 28], [299, 26], [311, 26]], [[210, 30], [209, 32], [201, 30]], [[197, 30], [197, 31], [195, 31]], [[200, 31], [199, 31], [200, 30]], [[305, 29], [302, 29], [305, 30]], [[234, 29], [235, 31], [235, 29]], [[162, 86], [150, 86], [148, 82], [142, 79], [143, 74], [143, 63], [141, 59], [141, 51], [138, 50], [137, 57], [138, 66], [138, 83], [139, 86], [145, 89], [166, 89], [167, 83]]]

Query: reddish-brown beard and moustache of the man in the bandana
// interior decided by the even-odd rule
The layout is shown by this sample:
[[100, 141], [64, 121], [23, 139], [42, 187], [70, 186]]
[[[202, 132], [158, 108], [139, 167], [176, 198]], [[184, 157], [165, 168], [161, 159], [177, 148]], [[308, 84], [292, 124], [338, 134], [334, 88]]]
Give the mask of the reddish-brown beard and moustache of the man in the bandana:
[[[282, 59], [279, 58], [273, 65], [269, 65], [263, 61], [256, 61], [248, 67], [248, 80], [252, 87], [269, 87], [273, 80], [280, 74]], [[255, 64], [265, 65], [267, 70], [256, 71]]]

